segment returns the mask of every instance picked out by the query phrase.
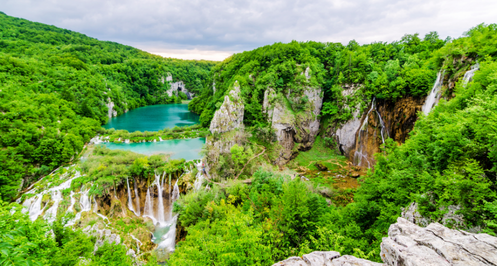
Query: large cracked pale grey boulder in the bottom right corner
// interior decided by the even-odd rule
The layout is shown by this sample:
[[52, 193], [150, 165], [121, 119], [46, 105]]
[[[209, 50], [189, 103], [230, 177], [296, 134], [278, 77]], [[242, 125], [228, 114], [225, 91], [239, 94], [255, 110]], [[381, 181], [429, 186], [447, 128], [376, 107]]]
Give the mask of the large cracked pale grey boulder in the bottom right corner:
[[391, 266], [497, 265], [497, 238], [438, 223], [420, 228], [399, 217], [383, 238], [380, 256]]

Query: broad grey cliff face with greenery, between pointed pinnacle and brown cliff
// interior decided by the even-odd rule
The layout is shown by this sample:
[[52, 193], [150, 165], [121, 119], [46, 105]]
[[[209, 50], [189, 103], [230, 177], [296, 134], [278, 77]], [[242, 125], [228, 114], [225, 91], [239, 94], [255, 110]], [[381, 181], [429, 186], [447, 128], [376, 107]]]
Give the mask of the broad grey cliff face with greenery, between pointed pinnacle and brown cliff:
[[[302, 72], [307, 81], [310, 79], [310, 69]], [[305, 102], [302, 99], [306, 99]], [[298, 106], [303, 107], [298, 107]], [[262, 111], [267, 114], [271, 127], [275, 129], [279, 144], [282, 146], [276, 165], [287, 163], [297, 150], [305, 151], [311, 148], [319, 131], [318, 115], [322, 107], [322, 90], [302, 84], [298, 91], [286, 91], [276, 94], [268, 87], [264, 92]], [[296, 145], [295, 145], [296, 143]]]

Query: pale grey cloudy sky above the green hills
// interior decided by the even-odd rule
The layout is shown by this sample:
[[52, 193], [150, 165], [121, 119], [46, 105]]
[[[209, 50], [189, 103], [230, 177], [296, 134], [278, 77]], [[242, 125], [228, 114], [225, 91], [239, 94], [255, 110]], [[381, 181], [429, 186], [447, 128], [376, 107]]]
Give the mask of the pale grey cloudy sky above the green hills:
[[0, 0], [7, 15], [166, 57], [222, 60], [274, 42], [346, 44], [497, 22], [497, 0]]

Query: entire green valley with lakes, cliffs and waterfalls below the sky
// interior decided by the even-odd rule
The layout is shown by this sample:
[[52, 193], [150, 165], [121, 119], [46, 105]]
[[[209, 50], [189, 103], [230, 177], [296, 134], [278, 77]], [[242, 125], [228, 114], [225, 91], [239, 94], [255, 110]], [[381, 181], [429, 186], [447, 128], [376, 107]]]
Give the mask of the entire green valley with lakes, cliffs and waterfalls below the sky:
[[213, 62], [0, 22], [3, 261], [497, 263], [495, 24]]

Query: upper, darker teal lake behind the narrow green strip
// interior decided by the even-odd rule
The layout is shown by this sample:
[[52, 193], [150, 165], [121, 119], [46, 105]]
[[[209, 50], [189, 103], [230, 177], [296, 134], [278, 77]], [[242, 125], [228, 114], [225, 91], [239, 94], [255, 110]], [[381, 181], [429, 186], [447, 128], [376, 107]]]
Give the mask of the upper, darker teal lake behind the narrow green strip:
[[198, 123], [199, 115], [188, 111], [186, 103], [143, 106], [109, 119], [103, 128], [134, 131], [157, 131], [166, 127], [191, 126]]

